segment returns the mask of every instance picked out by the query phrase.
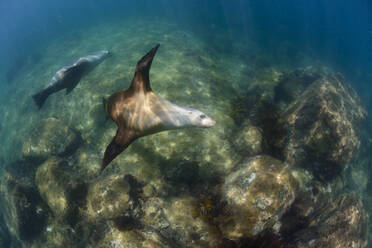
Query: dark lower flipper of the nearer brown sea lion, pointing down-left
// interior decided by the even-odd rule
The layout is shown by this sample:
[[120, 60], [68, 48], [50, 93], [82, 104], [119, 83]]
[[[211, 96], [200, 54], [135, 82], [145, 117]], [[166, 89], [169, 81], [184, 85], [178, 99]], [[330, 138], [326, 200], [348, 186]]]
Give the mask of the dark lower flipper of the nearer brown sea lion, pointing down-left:
[[103, 161], [101, 164], [101, 172], [135, 139], [136, 136], [134, 135], [133, 132], [126, 131], [123, 128], [118, 128], [115, 137], [112, 139], [111, 143], [106, 148], [105, 154], [103, 156]]

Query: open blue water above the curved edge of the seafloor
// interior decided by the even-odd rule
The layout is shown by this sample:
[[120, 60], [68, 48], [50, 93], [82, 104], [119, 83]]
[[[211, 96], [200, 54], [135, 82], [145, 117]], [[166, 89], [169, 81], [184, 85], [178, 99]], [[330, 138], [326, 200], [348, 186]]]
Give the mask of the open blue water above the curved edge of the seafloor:
[[[368, 89], [371, 68], [371, 3], [360, 1], [12, 1], [0, 3], [1, 54], [29, 52], [68, 30], [103, 20], [131, 16], [164, 17], [213, 40], [211, 26], [228, 32], [228, 42], [254, 39], [275, 52], [275, 44], [291, 43], [331, 63]], [[125, 27], [123, 27], [125, 28]], [[209, 31], [209, 32], [208, 32]], [[213, 45], [213, 42], [212, 44]], [[295, 51], [293, 51], [295, 53]], [[278, 58], [280, 60], [280, 58]], [[290, 58], [294, 59], [294, 58]], [[4, 66], [9, 60], [2, 61]]]

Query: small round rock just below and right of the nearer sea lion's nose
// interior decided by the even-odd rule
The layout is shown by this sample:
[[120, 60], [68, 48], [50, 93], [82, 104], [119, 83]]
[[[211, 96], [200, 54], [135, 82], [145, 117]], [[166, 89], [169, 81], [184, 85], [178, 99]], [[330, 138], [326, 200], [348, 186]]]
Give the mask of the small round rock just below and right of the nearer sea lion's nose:
[[234, 146], [243, 156], [259, 155], [263, 151], [262, 130], [253, 125], [244, 125], [234, 139]]

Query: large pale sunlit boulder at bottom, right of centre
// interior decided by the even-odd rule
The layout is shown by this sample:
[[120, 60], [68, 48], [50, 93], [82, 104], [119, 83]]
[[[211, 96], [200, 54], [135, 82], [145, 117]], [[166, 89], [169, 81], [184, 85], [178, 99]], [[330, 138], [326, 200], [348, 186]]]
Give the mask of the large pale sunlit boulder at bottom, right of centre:
[[237, 241], [279, 231], [280, 217], [294, 201], [296, 190], [287, 164], [266, 155], [248, 159], [222, 186], [226, 202], [219, 224], [222, 233]]

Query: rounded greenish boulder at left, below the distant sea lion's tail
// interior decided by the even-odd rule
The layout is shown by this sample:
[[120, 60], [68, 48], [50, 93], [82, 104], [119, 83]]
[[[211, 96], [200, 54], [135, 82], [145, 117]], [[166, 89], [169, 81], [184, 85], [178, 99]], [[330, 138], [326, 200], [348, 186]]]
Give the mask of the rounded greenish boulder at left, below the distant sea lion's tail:
[[65, 156], [73, 153], [81, 143], [77, 131], [56, 118], [40, 121], [25, 139], [23, 157], [43, 160], [51, 155]]

